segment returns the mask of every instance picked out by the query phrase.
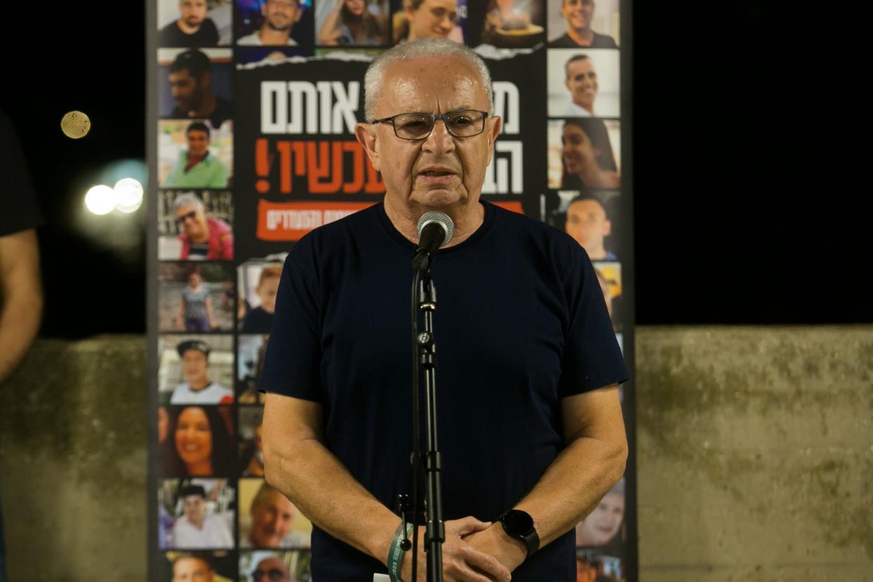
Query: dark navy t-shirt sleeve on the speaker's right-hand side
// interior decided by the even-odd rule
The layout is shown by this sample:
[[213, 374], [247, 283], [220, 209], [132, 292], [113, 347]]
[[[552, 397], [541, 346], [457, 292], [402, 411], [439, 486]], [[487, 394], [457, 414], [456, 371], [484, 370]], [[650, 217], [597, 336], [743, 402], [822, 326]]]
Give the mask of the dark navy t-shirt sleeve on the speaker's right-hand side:
[[571, 257], [564, 283], [569, 319], [561, 353], [561, 398], [629, 380], [594, 265], [581, 247]]

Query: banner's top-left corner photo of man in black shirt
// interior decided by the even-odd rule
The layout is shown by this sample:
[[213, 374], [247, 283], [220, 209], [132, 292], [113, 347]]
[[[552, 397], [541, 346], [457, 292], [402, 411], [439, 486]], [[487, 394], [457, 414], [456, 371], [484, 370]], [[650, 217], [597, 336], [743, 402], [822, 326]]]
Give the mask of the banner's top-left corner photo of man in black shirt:
[[231, 0], [158, 0], [158, 46], [230, 45]]

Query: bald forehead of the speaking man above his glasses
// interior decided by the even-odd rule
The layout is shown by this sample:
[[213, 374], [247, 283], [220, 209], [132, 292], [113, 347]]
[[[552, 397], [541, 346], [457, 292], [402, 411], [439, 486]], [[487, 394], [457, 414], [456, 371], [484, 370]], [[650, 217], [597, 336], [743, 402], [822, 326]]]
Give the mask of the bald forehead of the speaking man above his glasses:
[[[488, 111], [488, 92], [476, 65], [456, 55], [395, 61], [382, 76], [377, 116], [405, 112], [436, 113], [472, 108]], [[411, 108], [410, 108], [411, 107]]]

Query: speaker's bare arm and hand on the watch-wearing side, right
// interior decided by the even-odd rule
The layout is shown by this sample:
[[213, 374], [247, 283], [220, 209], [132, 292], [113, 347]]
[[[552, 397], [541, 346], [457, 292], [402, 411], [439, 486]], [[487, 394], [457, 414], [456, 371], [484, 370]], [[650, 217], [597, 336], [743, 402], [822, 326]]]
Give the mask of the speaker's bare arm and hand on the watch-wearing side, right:
[[[513, 508], [533, 517], [540, 547], [572, 530], [595, 509], [622, 478], [628, 458], [618, 385], [567, 396], [561, 401], [561, 420], [567, 447]], [[525, 544], [507, 536], [499, 523], [465, 539], [510, 570], [526, 558]]]

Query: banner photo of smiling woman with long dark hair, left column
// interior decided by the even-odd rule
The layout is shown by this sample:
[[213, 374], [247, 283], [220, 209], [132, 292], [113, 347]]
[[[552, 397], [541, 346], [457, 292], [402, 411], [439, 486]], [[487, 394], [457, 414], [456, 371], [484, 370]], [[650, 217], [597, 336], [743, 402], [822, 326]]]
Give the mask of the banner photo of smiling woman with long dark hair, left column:
[[218, 407], [170, 407], [169, 417], [168, 476], [230, 475], [230, 429]]

